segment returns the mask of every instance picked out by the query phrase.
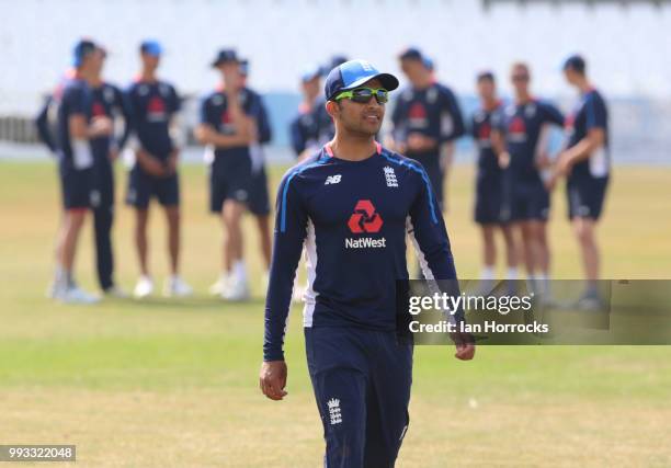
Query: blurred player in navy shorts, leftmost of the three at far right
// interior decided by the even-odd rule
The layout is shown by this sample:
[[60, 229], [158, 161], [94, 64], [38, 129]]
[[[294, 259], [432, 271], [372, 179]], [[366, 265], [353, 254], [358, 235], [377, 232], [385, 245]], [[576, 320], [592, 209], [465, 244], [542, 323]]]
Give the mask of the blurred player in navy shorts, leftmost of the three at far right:
[[518, 258], [510, 229], [510, 207], [503, 169], [499, 165], [497, 151], [492, 147], [492, 118], [500, 118], [503, 103], [497, 96], [493, 73], [485, 71], [477, 77], [477, 91], [480, 109], [471, 122], [471, 135], [478, 148], [478, 169], [476, 175], [475, 221], [482, 230], [482, 273], [480, 279], [487, 284], [496, 278], [497, 250], [494, 232], [500, 229], [505, 241], [507, 279], [518, 277]]

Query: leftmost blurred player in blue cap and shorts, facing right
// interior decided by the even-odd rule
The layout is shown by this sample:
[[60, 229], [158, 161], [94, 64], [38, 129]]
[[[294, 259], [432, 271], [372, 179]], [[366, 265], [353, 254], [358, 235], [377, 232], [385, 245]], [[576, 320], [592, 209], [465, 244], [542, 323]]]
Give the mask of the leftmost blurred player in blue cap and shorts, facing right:
[[57, 105], [56, 135], [52, 142], [58, 155], [64, 216], [57, 237], [56, 273], [49, 296], [66, 303], [95, 303], [75, 282], [75, 254], [87, 212], [100, 202], [94, 189], [94, 156], [91, 140], [109, 137], [112, 121], [92, 112], [91, 85], [104, 58], [103, 50], [93, 42], [80, 41], [73, 50], [75, 71], [55, 93]]

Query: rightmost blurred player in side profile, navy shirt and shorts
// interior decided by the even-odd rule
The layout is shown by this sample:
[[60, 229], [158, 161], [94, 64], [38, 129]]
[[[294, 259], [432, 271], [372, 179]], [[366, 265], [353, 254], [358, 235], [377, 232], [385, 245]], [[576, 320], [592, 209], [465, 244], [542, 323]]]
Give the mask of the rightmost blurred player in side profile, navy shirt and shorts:
[[555, 179], [567, 178], [568, 216], [580, 244], [588, 279], [588, 289], [579, 305], [596, 308], [601, 300], [596, 289], [600, 258], [594, 231], [611, 171], [609, 111], [603, 96], [587, 77], [582, 57], [569, 57], [564, 65], [564, 75], [580, 92], [580, 101], [566, 121], [568, 144], [557, 160]]

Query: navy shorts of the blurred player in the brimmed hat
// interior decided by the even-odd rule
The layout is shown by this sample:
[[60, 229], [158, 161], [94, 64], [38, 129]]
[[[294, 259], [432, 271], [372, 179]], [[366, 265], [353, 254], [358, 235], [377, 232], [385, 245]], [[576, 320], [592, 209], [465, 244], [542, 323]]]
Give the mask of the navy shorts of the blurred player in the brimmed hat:
[[220, 213], [226, 199], [248, 204], [252, 172], [248, 156], [215, 157], [209, 167], [209, 210]]

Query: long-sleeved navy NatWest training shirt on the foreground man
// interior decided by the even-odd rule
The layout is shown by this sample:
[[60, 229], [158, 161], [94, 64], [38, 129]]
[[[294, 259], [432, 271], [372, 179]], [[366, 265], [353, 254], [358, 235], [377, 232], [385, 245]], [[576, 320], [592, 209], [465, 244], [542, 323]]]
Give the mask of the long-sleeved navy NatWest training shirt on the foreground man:
[[396, 281], [407, 279], [406, 237], [427, 278], [455, 279], [450, 239], [424, 169], [377, 145], [363, 161], [325, 146], [292, 168], [277, 192], [265, 303], [265, 361], [283, 359], [294, 276], [305, 243], [305, 327], [396, 330]]

